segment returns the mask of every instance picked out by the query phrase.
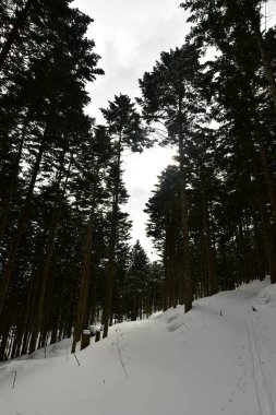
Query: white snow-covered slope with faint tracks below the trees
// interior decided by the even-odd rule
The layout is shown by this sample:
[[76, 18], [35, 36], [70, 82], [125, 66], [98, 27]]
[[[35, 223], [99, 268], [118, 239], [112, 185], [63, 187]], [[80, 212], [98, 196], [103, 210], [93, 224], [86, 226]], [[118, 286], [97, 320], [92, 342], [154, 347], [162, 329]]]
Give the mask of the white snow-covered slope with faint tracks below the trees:
[[0, 365], [0, 415], [275, 415], [275, 321], [264, 281], [115, 325], [80, 366], [63, 341]]

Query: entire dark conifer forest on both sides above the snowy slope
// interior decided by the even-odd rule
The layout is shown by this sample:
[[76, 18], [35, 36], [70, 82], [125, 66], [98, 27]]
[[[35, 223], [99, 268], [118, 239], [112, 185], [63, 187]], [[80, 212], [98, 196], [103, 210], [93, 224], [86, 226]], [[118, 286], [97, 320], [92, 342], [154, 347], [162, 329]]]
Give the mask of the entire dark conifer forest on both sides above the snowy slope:
[[[276, 282], [276, 27], [264, 3], [182, 2], [182, 47], [97, 124], [85, 110], [87, 84], [105, 76], [93, 19], [70, 0], [1, 2], [0, 360], [71, 335], [74, 352], [88, 324], [106, 337], [116, 322]], [[145, 206], [151, 261], [130, 246], [122, 159], [156, 142], [177, 157]]]

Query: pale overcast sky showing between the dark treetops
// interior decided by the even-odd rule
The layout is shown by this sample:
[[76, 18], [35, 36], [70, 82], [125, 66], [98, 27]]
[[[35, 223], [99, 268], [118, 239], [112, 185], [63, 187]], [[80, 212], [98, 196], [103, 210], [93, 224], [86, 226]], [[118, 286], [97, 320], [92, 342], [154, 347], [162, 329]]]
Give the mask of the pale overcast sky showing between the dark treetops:
[[[161, 51], [181, 46], [189, 26], [181, 0], [75, 0], [74, 7], [94, 19], [88, 36], [100, 55], [105, 75], [88, 86], [92, 104], [88, 112], [103, 118], [98, 108], [107, 107], [115, 95], [140, 95], [137, 80], [151, 71]], [[269, 23], [275, 22], [276, 2], [269, 1]], [[151, 240], [145, 236], [147, 215], [143, 213], [157, 176], [171, 163], [172, 151], [152, 149], [142, 155], [124, 157], [124, 181], [130, 201], [127, 210], [133, 221], [133, 242], [140, 239], [152, 259]]]

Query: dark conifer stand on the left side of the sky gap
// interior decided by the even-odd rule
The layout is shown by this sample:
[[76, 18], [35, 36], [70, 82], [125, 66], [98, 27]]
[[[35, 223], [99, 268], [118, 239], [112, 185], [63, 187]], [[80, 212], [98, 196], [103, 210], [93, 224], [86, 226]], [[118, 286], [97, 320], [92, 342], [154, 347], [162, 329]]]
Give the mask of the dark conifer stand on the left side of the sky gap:
[[105, 126], [84, 111], [86, 83], [104, 74], [86, 37], [93, 20], [67, 0], [21, 0], [1, 2], [0, 21], [4, 360], [72, 332], [74, 351], [88, 323], [103, 319], [107, 335], [109, 321], [149, 313], [163, 271], [144, 258], [134, 277], [121, 211], [122, 152], [151, 144], [134, 104], [116, 96]]

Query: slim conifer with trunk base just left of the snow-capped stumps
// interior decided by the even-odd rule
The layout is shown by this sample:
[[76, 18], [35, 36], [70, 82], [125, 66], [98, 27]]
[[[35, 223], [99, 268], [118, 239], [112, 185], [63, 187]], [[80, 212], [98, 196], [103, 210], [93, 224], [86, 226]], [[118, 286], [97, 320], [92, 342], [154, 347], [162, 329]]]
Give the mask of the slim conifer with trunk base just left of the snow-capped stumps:
[[96, 228], [97, 211], [103, 209], [103, 202], [108, 197], [104, 189], [107, 180], [107, 171], [112, 163], [113, 151], [110, 138], [103, 126], [97, 126], [94, 138], [82, 144], [81, 152], [77, 154], [77, 176], [76, 183], [76, 202], [86, 212], [86, 236], [83, 246], [82, 275], [80, 278], [80, 293], [77, 293], [79, 304], [74, 325], [74, 337], [72, 353], [75, 352], [76, 342], [81, 337], [82, 330], [88, 323], [88, 298], [93, 296], [89, 286], [94, 282], [95, 275], [92, 274], [93, 248], [95, 247], [94, 234]]

